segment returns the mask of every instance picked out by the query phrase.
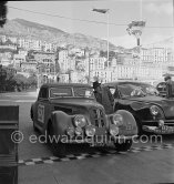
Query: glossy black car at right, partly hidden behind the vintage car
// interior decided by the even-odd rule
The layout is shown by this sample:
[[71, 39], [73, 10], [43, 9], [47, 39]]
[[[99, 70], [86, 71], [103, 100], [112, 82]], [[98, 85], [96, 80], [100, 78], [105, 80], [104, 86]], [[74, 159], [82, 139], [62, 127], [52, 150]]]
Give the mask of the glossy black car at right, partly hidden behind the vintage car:
[[127, 110], [134, 115], [139, 134], [144, 131], [156, 134], [174, 133], [174, 101], [160, 96], [153, 85], [133, 81], [104, 85], [109, 86], [114, 96], [114, 110]]

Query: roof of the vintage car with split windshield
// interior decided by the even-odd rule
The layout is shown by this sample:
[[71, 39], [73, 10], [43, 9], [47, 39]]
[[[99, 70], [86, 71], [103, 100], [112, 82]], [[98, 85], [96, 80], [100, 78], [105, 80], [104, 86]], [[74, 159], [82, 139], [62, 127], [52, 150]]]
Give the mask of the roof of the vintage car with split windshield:
[[58, 86], [84, 86], [84, 88], [92, 88], [89, 84], [81, 84], [81, 83], [45, 83], [42, 84], [41, 88], [58, 88]]

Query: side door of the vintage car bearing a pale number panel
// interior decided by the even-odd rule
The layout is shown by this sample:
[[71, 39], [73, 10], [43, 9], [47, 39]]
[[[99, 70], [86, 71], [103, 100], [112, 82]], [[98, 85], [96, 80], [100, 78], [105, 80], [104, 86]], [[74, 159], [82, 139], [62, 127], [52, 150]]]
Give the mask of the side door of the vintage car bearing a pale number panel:
[[47, 86], [41, 88], [37, 102], [37, 126], [42, 131], [48, 121], [49, 113], [49, 90]]

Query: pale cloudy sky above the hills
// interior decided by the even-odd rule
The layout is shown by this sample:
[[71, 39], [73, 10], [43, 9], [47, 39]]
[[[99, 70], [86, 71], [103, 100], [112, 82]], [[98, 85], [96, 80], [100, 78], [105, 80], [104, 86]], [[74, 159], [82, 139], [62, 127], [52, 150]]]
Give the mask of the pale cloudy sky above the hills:
[[[10, 20], [20, 18], [69, 33], [109, 39], [115, 45], [125, 48], [136, 47], [136, 39], [126, 31], [127, 24], [132, 21], [146, 22], [141, 37], [142, 45], [152, 45], [152, 43], [174, 37], [173, 0], [8, 1], [8, 7]], [[93, 8], [109, 9], [109, 17], [106, 13], [92, 11]], [[79, 19], [88, 21], [79, 21]]]

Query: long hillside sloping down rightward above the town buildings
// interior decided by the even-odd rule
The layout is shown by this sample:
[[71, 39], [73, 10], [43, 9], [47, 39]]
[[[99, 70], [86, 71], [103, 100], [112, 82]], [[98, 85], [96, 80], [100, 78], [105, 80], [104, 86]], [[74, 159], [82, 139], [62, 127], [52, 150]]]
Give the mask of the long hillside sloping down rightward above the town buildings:
[[[106, 40], [81, 33], [71, 34], [62, 31], [61, 29], [30, 22], [23, 19], [8, 20], [3, 29], [0, 29], [0, 33], [27, 39], [38, 39], [65, 45], [73, 44], [75, 47], [106, 50]], [[110, 43], [110, 50], [115, 50], [115, 48], [116, 47], [114, 44]]]

